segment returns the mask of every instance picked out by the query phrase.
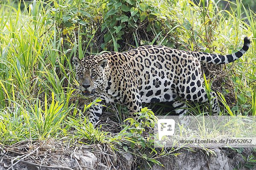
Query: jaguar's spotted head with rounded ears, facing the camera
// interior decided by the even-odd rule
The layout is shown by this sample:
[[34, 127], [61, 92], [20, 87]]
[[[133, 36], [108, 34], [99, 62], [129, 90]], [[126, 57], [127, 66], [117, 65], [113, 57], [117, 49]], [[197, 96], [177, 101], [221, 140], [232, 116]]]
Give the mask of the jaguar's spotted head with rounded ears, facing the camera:
[[96, 59], [96, 57], [88, 56], [80, 60], [73, 57], [73, 64], [82, 94], [87, 97], [93, 96], [96, 88], [101, 87], [105, 82], [105, 67], [108, 64], [108, 59]]

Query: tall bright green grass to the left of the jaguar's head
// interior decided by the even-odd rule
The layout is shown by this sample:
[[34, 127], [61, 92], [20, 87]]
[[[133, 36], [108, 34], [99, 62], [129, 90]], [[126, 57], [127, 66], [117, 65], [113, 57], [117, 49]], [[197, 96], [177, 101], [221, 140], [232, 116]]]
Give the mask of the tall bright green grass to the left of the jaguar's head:
[[45, 24], [50, 11], [42, 3], [33, 1], [25, 11], [1, 4], [2, 144], [61, 137], [64, 120], [74, 108], [69, 101], [74, 74], [71, 63], [67, 64], [71, 72], [64, 63], [71, 56], [63, 50], [55, 27], [47, 32], [52, 27]]

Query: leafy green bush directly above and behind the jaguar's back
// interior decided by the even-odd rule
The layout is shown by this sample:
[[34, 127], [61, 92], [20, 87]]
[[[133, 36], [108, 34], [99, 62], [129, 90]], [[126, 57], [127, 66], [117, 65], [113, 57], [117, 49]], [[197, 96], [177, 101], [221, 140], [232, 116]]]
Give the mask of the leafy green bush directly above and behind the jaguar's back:
[[[67, 43], [74, 42], [79, 32], [83, 49], [90, 47], [89, 53], [124, 51], [153, 44], [154, 37], [169, 34], [174, 22], [165, 16], [167, 5], [164, 1], [145, 0], [66, 0], [54, 3], [51, 21]], [[169, 38], [174, 40], [171, 35]], [[173, 46], [172, 41], [166, 45]]]

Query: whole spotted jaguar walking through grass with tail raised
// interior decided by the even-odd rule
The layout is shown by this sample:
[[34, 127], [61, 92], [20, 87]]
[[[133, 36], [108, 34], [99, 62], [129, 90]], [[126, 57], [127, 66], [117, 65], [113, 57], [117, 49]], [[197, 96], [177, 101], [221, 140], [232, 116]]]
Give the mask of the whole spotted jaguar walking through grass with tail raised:
[[[166, 46], [145, 45], [125, 52], [109, 52], [79, 59], [73, 57], [79, 89], [86, 97], [99, 97], [102, 103], [126, 105], [134, 119], [142, 103], [171, 102], [175, 113], [183, 115], [187, 106], [182, 100], [207, 102], [212, 114], [220, 112], [215, 92], [207, 91], [201, 77], [201, 63], [226, 64], [239, 59], [249, 48], [245, 37], [243, 47], [228, 55], [183, 51]], [[89, 121], [96, 124], [102, 105], [92, 105]]]

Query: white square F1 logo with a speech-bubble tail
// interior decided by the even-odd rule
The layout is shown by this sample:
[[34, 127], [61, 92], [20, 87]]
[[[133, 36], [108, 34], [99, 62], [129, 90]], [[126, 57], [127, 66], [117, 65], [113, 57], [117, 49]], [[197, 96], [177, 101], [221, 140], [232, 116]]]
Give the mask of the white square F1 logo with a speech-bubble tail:
[[159, 119], [157, 121], [159, 140], [162, 140], [163, 136], [173, 135], [175, 130], [174, 119]]

